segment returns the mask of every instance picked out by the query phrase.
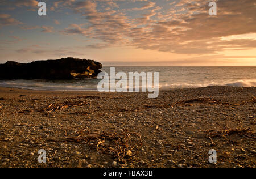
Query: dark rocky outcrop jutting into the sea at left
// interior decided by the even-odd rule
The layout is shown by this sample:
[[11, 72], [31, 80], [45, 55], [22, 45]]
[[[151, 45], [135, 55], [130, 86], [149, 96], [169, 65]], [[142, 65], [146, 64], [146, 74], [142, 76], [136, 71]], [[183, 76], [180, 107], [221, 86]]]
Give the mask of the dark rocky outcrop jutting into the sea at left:
[[94, 78], [101, 68], [99, 62], [70, 57], [31, 63], [6, 62], [0, 64], [0, 79]]

